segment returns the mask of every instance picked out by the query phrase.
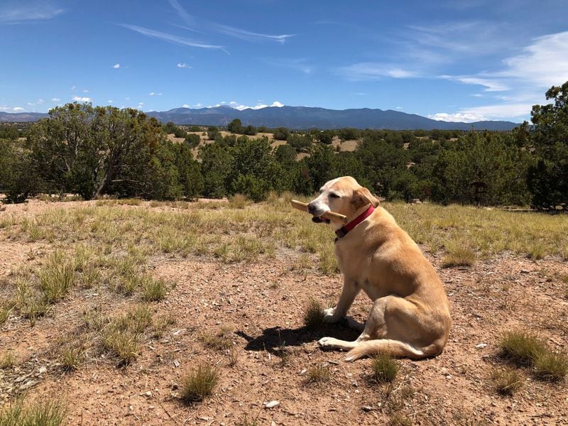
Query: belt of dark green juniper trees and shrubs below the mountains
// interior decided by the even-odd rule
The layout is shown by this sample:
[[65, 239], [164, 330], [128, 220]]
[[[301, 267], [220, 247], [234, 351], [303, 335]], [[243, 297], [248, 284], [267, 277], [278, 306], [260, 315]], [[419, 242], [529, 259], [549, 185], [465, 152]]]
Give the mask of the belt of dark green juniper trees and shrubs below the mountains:
[[[564, 209], [567, 92], [568, 82], [552, 87], [553, 103], [535, 105], [532, 125], [510, 132], [298, 132], [236, 119], [223, 136], [214, 126], [162, 125], [136, 109], [67, 104], [26, 129], [25, 141], [11, 127], [0, 131], [0, 189], [14, 202], [42, 192], [84, 200], [240, 193], [258, 202], [271, 191], [310, 195], [330, 178], [352, 175], [389, 201]], [[258, 131], [283, 143], [253, 136]], [[354, 151], [337, 152], [334, 140], [354, 142]]]

